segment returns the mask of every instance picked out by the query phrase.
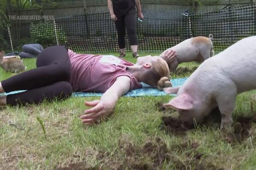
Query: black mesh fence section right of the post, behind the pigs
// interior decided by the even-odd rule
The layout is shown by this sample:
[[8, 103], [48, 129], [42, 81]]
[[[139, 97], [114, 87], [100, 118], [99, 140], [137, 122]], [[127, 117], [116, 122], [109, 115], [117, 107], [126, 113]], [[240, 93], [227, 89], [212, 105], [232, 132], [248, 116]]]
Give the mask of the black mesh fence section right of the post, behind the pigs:
[[256, 35], [256, 3], [227, 6], [218, 12], [190, 14], [193, 37], [214, 35], [215, 51]]

